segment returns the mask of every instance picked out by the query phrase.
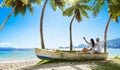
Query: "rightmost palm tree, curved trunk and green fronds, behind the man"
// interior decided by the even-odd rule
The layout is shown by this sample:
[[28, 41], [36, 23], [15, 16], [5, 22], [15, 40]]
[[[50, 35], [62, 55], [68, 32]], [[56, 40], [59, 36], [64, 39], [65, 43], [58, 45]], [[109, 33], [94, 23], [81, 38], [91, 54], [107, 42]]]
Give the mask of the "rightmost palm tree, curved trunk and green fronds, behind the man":
[[105, 32], [104, 32], [104, 52], [106, 53], [107, 48], [107, 32], [110, 25], [110, 20], [113, 19], [115, 22], [118, 22], [118, 16], [120, 16], [120, 1], [118, 0], [95, 0], [93, 10], [94, 15], [97, 16], [105, 3], [108, 3], [108, 13], [109, 19], [107, 21]]

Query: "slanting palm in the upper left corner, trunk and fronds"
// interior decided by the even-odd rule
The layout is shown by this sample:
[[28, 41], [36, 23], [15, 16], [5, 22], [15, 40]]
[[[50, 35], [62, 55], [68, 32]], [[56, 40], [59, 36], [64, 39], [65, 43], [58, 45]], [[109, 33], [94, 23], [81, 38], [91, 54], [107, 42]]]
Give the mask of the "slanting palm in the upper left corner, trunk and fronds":
[[4, 27], [4, 25], [7, 23], [11, 15], [14, 13], [15, 16], [17, 16], [19, 13], [22, 14], [22, 16], [25, 15], [26, 10], [28, 9], [30, 13], [33, 13], [33, 7], [32, 3], [41, 4], [41, 1], [39, 0], [4, 0], [3, 5], [6, 7], [12, 7], [12, 10], [10, 14], [7, 16], [5, 21], [0, 27], [0, 30]]

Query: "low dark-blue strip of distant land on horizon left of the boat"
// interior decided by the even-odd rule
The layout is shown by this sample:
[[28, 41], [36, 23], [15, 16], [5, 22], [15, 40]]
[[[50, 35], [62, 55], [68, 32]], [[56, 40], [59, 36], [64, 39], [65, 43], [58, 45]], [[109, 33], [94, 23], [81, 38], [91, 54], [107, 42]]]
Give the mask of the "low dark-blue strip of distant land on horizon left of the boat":
[[0, 47], [0, 51], [27, 51], [33, 50], [32, 48], [14, 48], [14, 47]]

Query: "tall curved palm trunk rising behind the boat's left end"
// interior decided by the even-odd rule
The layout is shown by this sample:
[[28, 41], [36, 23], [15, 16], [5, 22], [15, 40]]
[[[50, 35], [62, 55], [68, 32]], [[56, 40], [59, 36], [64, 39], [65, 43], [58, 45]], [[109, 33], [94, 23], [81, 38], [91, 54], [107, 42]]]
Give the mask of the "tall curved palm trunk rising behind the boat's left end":
[[45, 49], [44, 37], [43, 37], [43, 18], [44, 18], [44, 11], [45, 11], [47, 2], [48, 2], [48, 0], [46, 0], [45, 3], [44, 3], [44, 6], [42, 8], [41, 17], [40, 17], [40, 38], [41, 38], [41, 47], [42, 47], [42, 49]]

